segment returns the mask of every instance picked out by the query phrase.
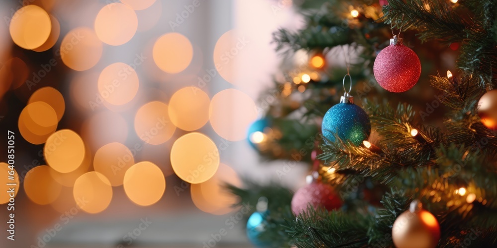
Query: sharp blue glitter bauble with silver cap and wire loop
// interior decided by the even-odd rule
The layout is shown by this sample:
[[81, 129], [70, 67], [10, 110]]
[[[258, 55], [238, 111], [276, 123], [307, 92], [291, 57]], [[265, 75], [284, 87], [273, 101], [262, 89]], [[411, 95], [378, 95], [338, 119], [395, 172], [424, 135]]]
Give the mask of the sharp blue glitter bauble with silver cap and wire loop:
[[345, 93], [340, 103], [331, 107], [323, 117], [323, 136], [335, 141], [335, 134], [343, 141], [359, 146], [371, 133], [371, 122], [366, 112], [354, 104], [353, 98]]

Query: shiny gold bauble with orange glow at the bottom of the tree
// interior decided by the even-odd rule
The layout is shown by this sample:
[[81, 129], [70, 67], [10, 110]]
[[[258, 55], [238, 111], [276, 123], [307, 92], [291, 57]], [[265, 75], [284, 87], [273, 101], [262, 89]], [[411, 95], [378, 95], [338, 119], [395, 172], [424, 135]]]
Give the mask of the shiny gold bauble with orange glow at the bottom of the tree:
[[440, 225], [419, 201], [397, 217], [392, 227], [392, 240], [397, 248], [435, 248], [440, 239]]

